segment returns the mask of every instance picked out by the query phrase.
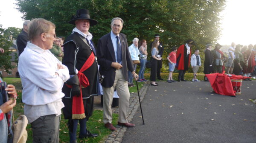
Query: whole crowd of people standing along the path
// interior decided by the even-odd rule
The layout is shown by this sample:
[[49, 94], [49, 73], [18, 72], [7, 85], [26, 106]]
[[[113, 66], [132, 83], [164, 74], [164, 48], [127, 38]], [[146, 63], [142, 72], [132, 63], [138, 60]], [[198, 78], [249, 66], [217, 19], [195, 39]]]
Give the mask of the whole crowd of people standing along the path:
[[[144, 78], [148, 59], [147, 41], [134, 38], [133, 44], [128, 46], [126, 35], [121, 33], [124, 21], [115, 17], [111, 20], [111, 31], [98, 40], [96, 48], [89, 29], [98, 22], [90, 18], [88, 10], [79, 9], [68, 23], [74, 28], [67, 39], [57, 37], [55, 24], [42, 18], [26, 20], [17, 38], [24, 114], [32, 126], [35, 143], [59, 142], [61, 109], [68, 120], [70, 143], [77, 143], [78, 123], [79, 138], [97, 137], [97, 134], [87, 130], [87, 121], [93, 114], [94, 96], [100, 95], [100, 84], [104, 94], [105, 127], [116, 130], [112, 124], [111, 110], [114, 90], [119, 95], [118, 125], [135, 126], [127, 121], [130, 97], [128, 86], [134, 86], [134, 79], [147, 81]], [[189, 64], [193, 71], [192, 81], [199, 81], [197, 72], [201, 67], [201, 56], [198, 49], [194, 54], [191, 53], [193, 45], [195, 42], [189, 39], [179, 48], [172, 47], [172, 52], [166, 58], [169, 64], [168, 83], [176, 82], [172, 76], [175, 68], [179, 70], [177, 81], [186, 81], [184, 75], [189, 70]], [[227, 58], [220, 50], [221, 45], [216, 44], [213, 50], [211, 43], [205, 46], [205, 74], [222, 73], [226, 64], [227, 73], [256, 75], [256, 45], [248, 45], [247, 48], [232, 43]], [[151, 86], [158, 85], [157, 79], [163, 80], [160, 74], [163, 50], [160, 35], [155, 34], [150, 44]], [[3, 49], [0, 52], [3, 53]], [[140, 64], [139, 75], [135, 72], [137, 64]], [[208, 81], [206, 77], [204, 80]], [[12, 85], [8, 88], [6, 90], [16, 97], [15, 88]], [[15, 104], [0, 103], [0, 114], [9, 112]], [[8, 109], [5, 109], [6, 106]]]

